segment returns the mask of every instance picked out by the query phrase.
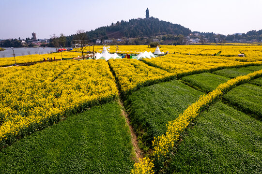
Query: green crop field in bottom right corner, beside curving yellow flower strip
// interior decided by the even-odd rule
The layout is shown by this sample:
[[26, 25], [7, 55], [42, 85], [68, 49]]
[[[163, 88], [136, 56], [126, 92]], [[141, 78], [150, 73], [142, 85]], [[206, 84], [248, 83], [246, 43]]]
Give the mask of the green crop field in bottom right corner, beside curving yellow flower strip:
[[167, 173], [261, 174], [261, 128], [261, 121], [216, 102], [185, 132]]

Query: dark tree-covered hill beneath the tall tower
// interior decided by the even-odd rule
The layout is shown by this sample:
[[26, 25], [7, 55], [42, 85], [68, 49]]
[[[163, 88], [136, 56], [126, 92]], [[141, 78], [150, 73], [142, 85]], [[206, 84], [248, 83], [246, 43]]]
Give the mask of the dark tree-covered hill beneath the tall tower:
[[[112, 23], [107, 27], [100, 27], [95, 30], [86, 32], [89, 40], [95, 42], [96, 39], [118, 39], [118, 38], [139, 38], [150, 37], [166, 34], [174, 35], [188, 35], [191, 33], [190, 29], [187, 29], [179, 24], [172, 24], [158, 18], [138, 18], [130, 19], [129, 21], [121, 21]], [[75, 34], [68, 36], [67, 41], [74, 38]]]

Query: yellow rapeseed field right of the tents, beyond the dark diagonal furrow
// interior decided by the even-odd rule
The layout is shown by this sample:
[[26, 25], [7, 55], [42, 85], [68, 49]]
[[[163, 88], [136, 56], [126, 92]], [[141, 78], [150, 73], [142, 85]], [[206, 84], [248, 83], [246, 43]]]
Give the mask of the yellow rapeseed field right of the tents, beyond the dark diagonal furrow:
[[239, 57], [229, 58], [177, 54], [169, 54], [160, 58], [145, 58], [143, 61], [170, 73], [176, 73], [177, 76], [201, 73], [210, 70], [215, 71], [222, 68], [262, 64], [262, 61], [257, 60], [256, 58], [245, 58], [245, 61], [247, 62], [244, 62], [243, 59]]

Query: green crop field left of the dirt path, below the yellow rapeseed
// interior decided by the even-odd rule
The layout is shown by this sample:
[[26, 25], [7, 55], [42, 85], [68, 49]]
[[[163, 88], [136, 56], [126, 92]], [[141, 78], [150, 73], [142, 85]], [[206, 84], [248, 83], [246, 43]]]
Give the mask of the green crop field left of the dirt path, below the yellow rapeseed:
[[121, 107], [110, 102], [2, 149], [0, 173], [128, 174], [133, 155]]

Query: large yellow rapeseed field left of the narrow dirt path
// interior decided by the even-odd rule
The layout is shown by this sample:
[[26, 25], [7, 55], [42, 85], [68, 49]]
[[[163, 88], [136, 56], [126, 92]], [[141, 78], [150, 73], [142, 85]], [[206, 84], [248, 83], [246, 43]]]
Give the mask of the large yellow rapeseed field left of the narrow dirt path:
[[0, 143], [42, 129], [69, 113], [114, 100], [104, 60], [57, 61], [0, 69]]

